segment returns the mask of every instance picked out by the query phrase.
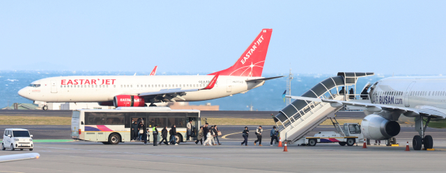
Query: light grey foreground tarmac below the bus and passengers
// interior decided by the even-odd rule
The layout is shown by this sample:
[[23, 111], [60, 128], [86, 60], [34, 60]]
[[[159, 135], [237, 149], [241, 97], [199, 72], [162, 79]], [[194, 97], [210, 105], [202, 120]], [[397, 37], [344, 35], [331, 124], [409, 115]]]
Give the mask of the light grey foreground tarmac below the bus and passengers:
[[[264, 138], [268, 140], [268, 138]], [[404, 151], [400, 147], [248, 146], [222, 139], [222, 145], [193, 142], [178, 146], [132, 142], [36, 143], [40, 158], [1, 164], [1, 172], [444, 172], [446, 140], [435, 140], [435, 151]], [[30, 151], [0, 151], [0, 155]]]

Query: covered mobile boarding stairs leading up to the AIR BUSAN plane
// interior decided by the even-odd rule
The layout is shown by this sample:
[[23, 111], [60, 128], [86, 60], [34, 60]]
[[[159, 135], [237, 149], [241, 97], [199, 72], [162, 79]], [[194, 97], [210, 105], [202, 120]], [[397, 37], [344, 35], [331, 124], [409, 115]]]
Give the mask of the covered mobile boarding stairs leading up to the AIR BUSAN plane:
[[[302, 94], [302, 97], [334, 99], [339, 101], [357, 99], [356, 101], [370, 102], [368, 96], [367, 99], [364, 98], [364, 100], [362, 100], [362, 97], [364, 96], [360, 97], [360, 94], [347, 93], [350, 88], [354, 88], [356, 92], [357, 79], [373, 75], [374, 73], [371, 72], [339, 72], [337, 76], [330, 77], [316, 84], [312, 89]], [[344, 91], [341, 90], [342, 87], [345, 88]], [[364, 88], [362, 90], [364, 90]], [[307, 133], [312, 131], [316, 126], [327, 120], [329, 117], [334, 117], [334, 113], [341, 108], [331, 106], [329, 103], [296, 99], [280, 110], [273, 119], [277, 126], [279, 126], [278, 130], [281, 140], [287, 142], [287, 144], [293, 144], [293, 142], [303, 138]]]

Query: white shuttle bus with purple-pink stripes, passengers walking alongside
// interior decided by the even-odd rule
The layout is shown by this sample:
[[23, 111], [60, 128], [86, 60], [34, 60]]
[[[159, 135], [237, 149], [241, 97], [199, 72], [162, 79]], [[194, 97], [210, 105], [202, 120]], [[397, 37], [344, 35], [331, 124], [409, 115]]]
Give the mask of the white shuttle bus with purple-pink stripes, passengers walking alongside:
[[[142, 122], [143, 129], [150, 129], [149, 140], [153, 142], [152, 129], [158, 124], [158, 139], [160, 142], [161, 131], [167, 127], [176, 125], [176, 142], [186, 142], [186, 124], [192, 120], [191, 138], [196, 140], [199, 131], [200, 110], [171, 110], [167, 107], [119, 107], [112, 110], [101, 109], [77, 109], [72, 111], [71, 138], [102, 142], [105, 145], [117, 145], [119, 142], [134, 142], [135, 135], [132, 122]], [[167, 140], [170, 135], [167, 133]]]

